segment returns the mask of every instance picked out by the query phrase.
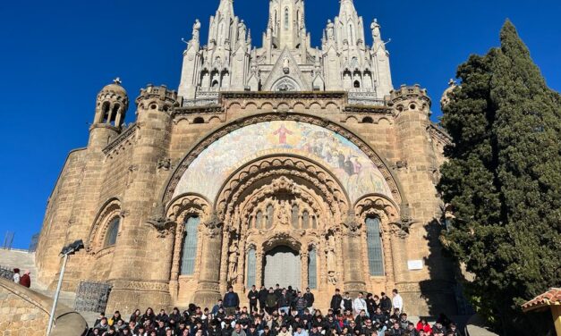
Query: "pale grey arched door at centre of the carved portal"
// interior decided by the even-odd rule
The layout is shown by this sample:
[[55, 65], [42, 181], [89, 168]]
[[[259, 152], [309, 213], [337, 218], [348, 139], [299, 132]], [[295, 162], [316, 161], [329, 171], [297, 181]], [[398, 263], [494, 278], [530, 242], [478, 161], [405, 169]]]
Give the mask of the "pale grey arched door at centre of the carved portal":
[[269, 250], [263, 269], [263, 281], [267, 288], [278, 283], [281, 288], [292, 286], [293, 289], [302, 289], [300, 253], [293, 248], [278, 246]]

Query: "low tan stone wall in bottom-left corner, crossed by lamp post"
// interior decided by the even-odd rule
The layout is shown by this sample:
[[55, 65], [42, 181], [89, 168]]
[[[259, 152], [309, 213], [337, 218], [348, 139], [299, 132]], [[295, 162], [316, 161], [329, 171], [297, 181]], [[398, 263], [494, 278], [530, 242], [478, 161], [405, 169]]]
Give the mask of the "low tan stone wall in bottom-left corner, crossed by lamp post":
[[[0, 336], [43, 336], [53, 300], [13, 281], [0, 279]], [[51, 336], [81, 336], [88, 324], [81, 315], [59, 306]]]

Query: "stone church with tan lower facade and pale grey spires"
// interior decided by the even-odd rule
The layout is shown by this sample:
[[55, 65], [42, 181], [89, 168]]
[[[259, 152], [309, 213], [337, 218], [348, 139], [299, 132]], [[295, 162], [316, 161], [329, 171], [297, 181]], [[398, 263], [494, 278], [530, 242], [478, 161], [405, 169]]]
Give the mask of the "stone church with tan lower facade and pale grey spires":
[[[178, 91], [120, 81], [97, 98], [88, 147], [64, 163], [37, 252], [39, 280], [113, 286], [108, 311], [210, 306], [229, 285], [400, 290], [410, 315], [454, 315], [435, 188], [445, 133], [419, 86], [394, 89], [377, 21], [366, 46], [352, 0], [310, 46], [302, 0], [271, 0], [263, 46], [221, 0], [200, 22]], [[242, 298], [246, 295], [242, 295]]]

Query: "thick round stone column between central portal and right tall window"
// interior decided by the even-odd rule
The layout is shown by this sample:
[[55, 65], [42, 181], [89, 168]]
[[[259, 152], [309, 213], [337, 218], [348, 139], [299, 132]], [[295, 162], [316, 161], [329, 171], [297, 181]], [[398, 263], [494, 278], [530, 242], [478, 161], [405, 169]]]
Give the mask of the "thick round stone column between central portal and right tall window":
[[344, 290], [356, 297], [366, 291], [366, 283], [361, 270], [361, 224], [356, 220], [354, 211], [349, 211], [344, 221]]

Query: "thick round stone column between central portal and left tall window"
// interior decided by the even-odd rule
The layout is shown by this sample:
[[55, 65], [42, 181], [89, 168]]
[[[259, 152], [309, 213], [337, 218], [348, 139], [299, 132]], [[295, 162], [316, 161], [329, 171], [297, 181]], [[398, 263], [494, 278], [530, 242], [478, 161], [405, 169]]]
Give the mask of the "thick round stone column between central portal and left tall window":
[[193, 296], [193, 302], [201, 307], [212, 307], [220, 295], [220, 258], [222, 250], [222, 223], [213, 214], [204, 223], [205, 239], [202, 246], [202, 260], [200, 264], [199, 285]]

